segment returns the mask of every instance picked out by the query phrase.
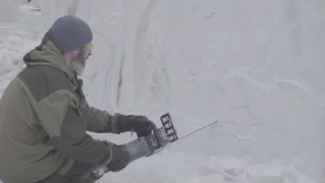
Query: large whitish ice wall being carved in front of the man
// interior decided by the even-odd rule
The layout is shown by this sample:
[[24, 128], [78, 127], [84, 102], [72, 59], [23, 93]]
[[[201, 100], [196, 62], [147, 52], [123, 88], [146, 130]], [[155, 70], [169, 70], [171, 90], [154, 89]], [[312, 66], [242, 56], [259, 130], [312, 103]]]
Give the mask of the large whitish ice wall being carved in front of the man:
[[76, 16], [94, 31], [86, 96], [110, 112], [171, 112], [180, 135], [218, 120], [179, 151], [281, 159], [324, 180], [324, 9], [320, 0], [78, 1]]

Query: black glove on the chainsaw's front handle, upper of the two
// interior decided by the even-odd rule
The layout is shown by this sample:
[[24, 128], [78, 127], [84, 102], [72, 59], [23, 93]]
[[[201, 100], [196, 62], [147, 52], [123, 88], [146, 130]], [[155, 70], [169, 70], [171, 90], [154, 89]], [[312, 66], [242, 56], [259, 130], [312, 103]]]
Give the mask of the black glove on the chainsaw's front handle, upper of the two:
[[152, 121], [146, 116], [120, 115], [116, 125], [119, 133], [136, 132], [138, 137], [144, 137], [152, 132], [150, 123], [152, 123]]

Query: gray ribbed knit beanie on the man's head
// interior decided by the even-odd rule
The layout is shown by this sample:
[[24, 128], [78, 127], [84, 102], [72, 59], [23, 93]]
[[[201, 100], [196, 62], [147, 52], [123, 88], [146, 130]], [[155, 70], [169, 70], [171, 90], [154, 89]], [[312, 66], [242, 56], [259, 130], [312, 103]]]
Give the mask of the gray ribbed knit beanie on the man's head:
[[81, 49], [92, 41], [92, 30], [88, 24], [71, 15], [57, 19], [51, 27], [51, 33], [61, 53]]

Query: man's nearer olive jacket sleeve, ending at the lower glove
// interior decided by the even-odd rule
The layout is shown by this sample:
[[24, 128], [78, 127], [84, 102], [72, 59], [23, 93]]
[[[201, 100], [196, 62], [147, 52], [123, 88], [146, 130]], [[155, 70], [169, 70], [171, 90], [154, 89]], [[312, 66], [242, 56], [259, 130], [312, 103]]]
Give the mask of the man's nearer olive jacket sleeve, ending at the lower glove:
[[72, 92], [60, 90], [37, 103], [35, 112], [60, 154], [80, 162], [108, 162], [111, 149], [86, 133], [87, 123], [77, 106]]

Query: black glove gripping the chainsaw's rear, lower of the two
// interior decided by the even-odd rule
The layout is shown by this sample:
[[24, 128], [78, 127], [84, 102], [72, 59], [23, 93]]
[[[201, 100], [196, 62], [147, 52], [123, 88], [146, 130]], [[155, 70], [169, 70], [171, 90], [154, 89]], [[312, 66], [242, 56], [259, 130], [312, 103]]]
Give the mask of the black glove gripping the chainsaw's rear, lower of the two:
[[110, 162], [108, 162], [107, 167], [110, 171], [113, 172], [121, 171], [123, 168], [128, 166], [131, 157], [128, 154], [128, 150], [126, 150], [125, 146], [117, 146], [114, 143], [111, 144], [112, 158], [110, 159]]

